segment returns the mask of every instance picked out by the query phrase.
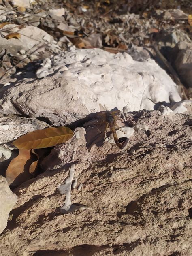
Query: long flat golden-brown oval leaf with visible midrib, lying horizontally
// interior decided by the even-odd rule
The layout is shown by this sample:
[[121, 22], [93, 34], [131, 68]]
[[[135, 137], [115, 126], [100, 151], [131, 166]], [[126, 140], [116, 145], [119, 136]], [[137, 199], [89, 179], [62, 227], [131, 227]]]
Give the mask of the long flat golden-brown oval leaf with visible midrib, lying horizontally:
[[12, 144], [18, 149], [38, 149], [53, 147], [57, 144], [68, 141], [72, 136], [73, 131], [68, 127], [51, 127], [44, 130], [28, 132], [13, 141]]

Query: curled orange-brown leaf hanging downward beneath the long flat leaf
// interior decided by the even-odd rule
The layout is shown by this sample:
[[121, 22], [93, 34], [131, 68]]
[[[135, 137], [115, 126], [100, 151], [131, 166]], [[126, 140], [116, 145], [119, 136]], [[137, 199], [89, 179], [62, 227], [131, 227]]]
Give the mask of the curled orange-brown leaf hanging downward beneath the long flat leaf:
[[29, 173], [30, 158], [30, 150], [21, 149], [19, 155], [11, 160], [6, 170], [6, 180], [9, 185], [20, 185], [32, 177]]

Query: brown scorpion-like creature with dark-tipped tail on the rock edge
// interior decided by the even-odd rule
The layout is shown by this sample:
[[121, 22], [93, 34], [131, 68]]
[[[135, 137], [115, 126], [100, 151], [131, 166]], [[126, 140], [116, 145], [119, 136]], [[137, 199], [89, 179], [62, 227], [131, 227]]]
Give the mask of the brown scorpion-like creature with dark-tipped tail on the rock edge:
[[[109, 127], [111, 129], [111, 132], [113, 133], [113, 138], [114, 138], [114, 141], [115, 141], [117, 147], [119, 147], [119, 149], [123, 149], [128, 143], [128, 138], [122, 137], [122, 138], [118, 139], [117, 133], [115, 130], [115, 126], [119, 129], [119, 126], [117, 126], [116, 120], [121, 120], [121, 119], [117, 118], [117, 115], [119, 115], [120, 113], [121, 113], [120, 110], [102, 111], [101, 113], [98, 114], [98, 119], [101, 119], [100, 124], [102, 124], [102, 123], [106, 124], [104, 132], [106, 132], [107, 128]], [[122, 131], [122, 132], [124, 132], [124, 131]]]

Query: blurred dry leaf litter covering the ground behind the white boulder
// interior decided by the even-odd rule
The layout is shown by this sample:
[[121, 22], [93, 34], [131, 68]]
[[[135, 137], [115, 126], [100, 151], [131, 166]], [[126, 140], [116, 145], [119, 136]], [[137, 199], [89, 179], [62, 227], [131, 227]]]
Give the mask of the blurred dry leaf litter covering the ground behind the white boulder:
[[[66, 51], [71, 45], [81, 49], [98, 47], [112, 53], [126, 51], [131, 54], [132, 47], [149, 47], [151, 36], [154, 37], [155, 34], [163, 31], [169, 31], [169, 34], [172, 34], [175, 29], [179, 29], [191, 37], [190, 15], [180, 10], [188, 13], [191, 8], [190, 0], [174, 2], [162, 0], [161, 3], [157, 0], [153, 2], [39, 0], [38, 3], [33, 2], [28, 8], [12, 7], [9, 3], [1, 4], [0, 19], [3, 22], [0, 24], [0, 34], [2, 37], [11, 33], [19, 33], [23, 28], [34, 27], [46, 32], [55, 41], [55, 43], [49, 42], [48, 45], [36, 51], [32, 47], [33, 54], [23, 53], [27, 55], [23, 61], [20, 58], [22, 54], [19, 53], [24, 47], [22, 44], [19, 45], [21, 49], [17, 49], [16, 45], [6, 46], [6, 51], [0, 54], [3, 68], [1, 73], [3, 74], [4, 71], [9, 77], [28, 63]], [[12, 27], [9, 27], [10, 23]], [[8, 34], [3, 34], [5, 32]], [[24, 35], [31, 37], [28, 33]], [[39, 43], [38, 39], [47, 43], [45, 37], [42, 33], [39, 34], [35, 39], [36, 43]], [[11, 39], [9, 40], [11, 43]], [[155, 37], [154, 40], [156, 40]], [[28, 44], [27, 40], [26, 43]], [[3, 63], [4, 55], [9, 65]], [[18, 62], [20, 62], [19, 66], [9, 72], [10, 66], [14, 67]], [[35, 73], [34, 69], [32, 71]], [[5, 80], [2, 80], [2, 84]]]

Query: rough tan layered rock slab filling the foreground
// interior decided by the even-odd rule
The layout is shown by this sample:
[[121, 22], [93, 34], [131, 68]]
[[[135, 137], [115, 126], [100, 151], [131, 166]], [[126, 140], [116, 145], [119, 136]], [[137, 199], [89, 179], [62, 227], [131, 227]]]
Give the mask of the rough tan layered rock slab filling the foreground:
[[[55, 146], [44, 173], [13, 191], [18, 201], [1, 234], [1, 255], [189, 255], [190, 115], [136, 111], [118, 121], [134, 124], [148, 130], [134, 131], [123, 150], [103, 141], [94, 120]], [[90, 151], [88, 141], [96, 141]], [[65, 195], [57, 188], [72, 164], [70, 199], [88, 208], [61, 214]]]

